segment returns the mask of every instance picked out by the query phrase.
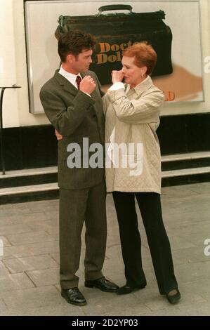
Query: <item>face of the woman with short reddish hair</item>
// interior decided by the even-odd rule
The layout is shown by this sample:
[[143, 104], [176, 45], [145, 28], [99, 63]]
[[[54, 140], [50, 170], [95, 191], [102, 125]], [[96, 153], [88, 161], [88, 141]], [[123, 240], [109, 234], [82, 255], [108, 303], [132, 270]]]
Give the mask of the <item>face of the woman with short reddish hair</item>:
[[122, 72], [124, 73], [124, 82], [131, 86], [140, 84], [146, 77], [147, 67], [137, 67], [134, 63], [135, 57], [130, 58], [123, 56], [122, 58]]

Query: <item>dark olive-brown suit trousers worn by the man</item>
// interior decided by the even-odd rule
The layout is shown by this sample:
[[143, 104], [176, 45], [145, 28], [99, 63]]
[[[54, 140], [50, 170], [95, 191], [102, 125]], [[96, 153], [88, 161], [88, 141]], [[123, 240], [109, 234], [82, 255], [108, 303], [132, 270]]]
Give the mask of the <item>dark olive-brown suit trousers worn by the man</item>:
[[107, 222], [105, 183], [80, 190], [60, 189], [60, 286], [78, 286], [81, 230], [85, 222], [85, 279], [103, 277]]

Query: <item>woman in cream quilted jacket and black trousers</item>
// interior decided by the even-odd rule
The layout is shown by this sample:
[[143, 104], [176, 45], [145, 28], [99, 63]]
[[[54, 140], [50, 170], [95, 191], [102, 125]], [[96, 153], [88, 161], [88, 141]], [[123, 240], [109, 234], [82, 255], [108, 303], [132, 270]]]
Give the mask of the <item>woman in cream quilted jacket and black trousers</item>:
[[[141, 239], [135, 197], [143, 218], [159, 292], [169, 303], [181, 298], [173, 271], [169, 238], [160, 201], [161, 159], [156, 130], [164, 94], [150, 74], [157, 55], [141, 42], [126, 48], [122, 70], [112, 72], [113, 85], [104, 98], [106, 183], [117, 211], [126, 284], [118, 294], [143, 289]], [[122, 83], [124, 79], [125, 84]]]

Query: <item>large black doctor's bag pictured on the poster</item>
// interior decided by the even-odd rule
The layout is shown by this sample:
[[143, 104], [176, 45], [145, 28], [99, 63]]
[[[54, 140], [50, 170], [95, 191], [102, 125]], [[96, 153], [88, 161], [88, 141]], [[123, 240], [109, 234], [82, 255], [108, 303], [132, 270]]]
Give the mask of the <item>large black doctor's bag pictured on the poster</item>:
[[[129, 13], [108, 13], [128, 9]], [[98, 75], [101, 84], [111, 84], [112, 70], [121, 70], [122, 51], [135, 42], [147, 41], [157, 52], [157, 64], [152, 76], [171, 74], [172, 33], [163, 20], [164, 11], [133, 13], [129, 5], [107, 5], [99, 8], [99, 13], [90, 16], [63, 16], [58, 18], [59, 25], [55, 37], [69, 30], [78, 29], [96, 37], [93, 63], [90, 70]]]

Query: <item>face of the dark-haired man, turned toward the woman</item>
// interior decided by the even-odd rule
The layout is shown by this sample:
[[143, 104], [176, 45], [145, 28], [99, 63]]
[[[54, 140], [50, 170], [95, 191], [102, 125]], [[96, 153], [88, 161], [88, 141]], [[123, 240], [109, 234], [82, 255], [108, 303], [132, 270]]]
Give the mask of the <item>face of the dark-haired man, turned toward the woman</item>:
[[92, 49], [84, 49], [79, 55], [68, 55], [68, 62], [70, 65], [71, 72], [78, 74], [79, 72], [86, 72], [92, 62], [93, 51]]

